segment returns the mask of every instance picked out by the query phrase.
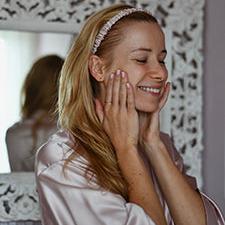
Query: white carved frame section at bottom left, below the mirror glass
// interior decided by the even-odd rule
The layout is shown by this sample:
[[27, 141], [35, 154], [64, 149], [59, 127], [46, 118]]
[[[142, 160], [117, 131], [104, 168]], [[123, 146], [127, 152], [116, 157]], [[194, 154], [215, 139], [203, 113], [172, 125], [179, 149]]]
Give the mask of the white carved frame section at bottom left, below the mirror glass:
[[0, 221], [40, 220], [33, 173], [0, 176]]

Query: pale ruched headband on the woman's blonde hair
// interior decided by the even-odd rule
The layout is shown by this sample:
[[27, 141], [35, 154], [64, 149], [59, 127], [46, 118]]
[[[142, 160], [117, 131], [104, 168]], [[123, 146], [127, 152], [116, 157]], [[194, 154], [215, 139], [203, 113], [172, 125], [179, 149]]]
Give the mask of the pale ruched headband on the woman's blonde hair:
[[100, 29], [99, 33], [97, 34], [95, 38], [95, 42], [92, 48], [92, 53], [95, 54], [97, 52], [98, 47], [100, 46], [101, 42], [104, 40], [106, 34], [111, 30], [112, 26], [118, 20], [134, 12], [147, 12], [148, 14], [150, 14], [148, 11], [141, 8], [127, 8], [127, 9], [121, 10], [118, 14], [113, 16], [107, 23], [105, 23], [103, 27]]

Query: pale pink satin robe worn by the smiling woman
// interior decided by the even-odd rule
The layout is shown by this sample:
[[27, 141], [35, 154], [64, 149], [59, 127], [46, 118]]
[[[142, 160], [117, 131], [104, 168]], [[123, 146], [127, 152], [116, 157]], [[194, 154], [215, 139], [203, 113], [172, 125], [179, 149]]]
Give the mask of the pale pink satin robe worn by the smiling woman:
[[[174, 163], [184, 172], [182, 158], [170, 137], [162, 134], [162, 139]], [[137, 204], [126, 202], [122, 196], [102, 189], [95, 180], [88, 181], [84, 176], [84, 165], [88, 162], [82, 156], [70, 162], [64, 174], [65, 159], [74, 151], [75, 145], [73, 137], [61, 130], [53, 135], [36, 155], [35, 169], [43, 225], [155, 225]], [[144, 161], [148, 167], [148, 162]], [[149, 173], [153, 175], [167, 224], [174, 225], [155, 176]], [[187, 179], [197, 190], [195, 179], [189, 176]], [[203, 193], [201, 197], [207, 225], [225, 225], [216, 204]]]

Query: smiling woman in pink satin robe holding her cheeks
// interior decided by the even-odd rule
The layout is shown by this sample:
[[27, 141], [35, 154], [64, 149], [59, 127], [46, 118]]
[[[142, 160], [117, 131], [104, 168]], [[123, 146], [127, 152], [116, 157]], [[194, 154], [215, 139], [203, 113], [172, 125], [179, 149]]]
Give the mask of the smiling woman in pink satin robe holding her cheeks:
[[116, 5], [86, 22], [60, 79], [62, 130], [37, 154], [43, 224], [224, 224], [159, 130], [165, 57], [146, 11]]

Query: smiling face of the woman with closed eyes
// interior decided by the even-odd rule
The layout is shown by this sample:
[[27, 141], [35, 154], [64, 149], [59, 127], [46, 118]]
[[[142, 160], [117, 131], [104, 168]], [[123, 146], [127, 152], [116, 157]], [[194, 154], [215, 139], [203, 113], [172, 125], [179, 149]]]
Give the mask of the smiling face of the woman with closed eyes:
[[164, 64], [164, 34], [156, 23], [129, 22], [123, 35], [122, 41], [113, 49], [112, 64], [105, 75], [105, 87], [107, 76], [117, 69], [125, 71], [134, 88], [136, 109], [153, 112], [158, 108], [168, 77]]

